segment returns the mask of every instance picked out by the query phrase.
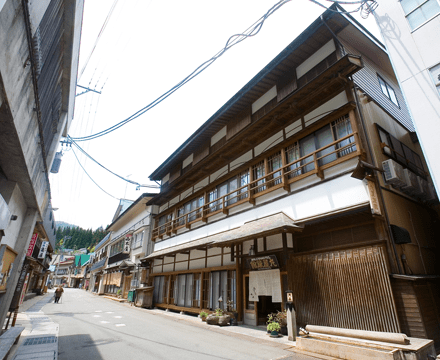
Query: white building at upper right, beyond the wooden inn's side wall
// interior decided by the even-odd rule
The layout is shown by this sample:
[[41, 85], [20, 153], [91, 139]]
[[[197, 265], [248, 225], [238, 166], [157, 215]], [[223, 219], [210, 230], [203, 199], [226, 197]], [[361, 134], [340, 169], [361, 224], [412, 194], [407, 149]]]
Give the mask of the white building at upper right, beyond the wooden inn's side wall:
[[[379, 0], [378, 4], [374, 16], [440, 194], [440, 3]], [[386, 94], [386, 84], [382, 89]]]

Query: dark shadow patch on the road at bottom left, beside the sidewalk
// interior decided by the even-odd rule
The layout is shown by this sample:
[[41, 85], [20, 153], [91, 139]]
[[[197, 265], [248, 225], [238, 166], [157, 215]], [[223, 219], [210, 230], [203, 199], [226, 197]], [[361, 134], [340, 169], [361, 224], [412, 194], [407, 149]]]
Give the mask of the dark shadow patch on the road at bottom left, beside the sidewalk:
[[58, 359], [59, 360], [78, 360], [78, 359], [104, 359], [98, 346], [114, 343], [115, 340], [93, 341], [90, 335], [68, 335], [58, 337]]

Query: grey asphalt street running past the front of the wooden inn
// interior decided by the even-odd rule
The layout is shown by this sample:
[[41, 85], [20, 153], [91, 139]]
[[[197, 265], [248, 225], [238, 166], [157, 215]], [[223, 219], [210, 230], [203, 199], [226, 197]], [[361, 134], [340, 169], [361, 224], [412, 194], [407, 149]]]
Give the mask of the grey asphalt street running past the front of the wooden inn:
[[42, 310], [60, 325], [60, 360], [315, 359], [79, 289], [65, 289], [61, 303]]

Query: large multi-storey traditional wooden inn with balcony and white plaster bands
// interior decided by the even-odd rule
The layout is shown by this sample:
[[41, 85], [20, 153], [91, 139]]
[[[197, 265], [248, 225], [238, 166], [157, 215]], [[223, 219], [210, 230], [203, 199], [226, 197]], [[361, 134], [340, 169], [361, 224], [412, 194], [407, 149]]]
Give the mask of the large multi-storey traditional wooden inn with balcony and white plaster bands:
[[438, 202], [384, 46], [338, 9], [150, 176], [155, 306], [258, 325], [290, 289], [300, 326], [440, 339]]

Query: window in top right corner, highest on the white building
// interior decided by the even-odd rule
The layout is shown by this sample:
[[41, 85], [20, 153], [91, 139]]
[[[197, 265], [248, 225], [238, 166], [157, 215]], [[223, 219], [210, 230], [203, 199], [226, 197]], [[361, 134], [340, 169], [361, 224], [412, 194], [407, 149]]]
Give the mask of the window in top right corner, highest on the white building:
[[405, 17], [408, 20], [411, 30], [440, 14], [438, 0], [401, 0]]

